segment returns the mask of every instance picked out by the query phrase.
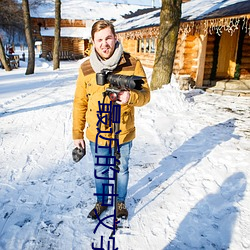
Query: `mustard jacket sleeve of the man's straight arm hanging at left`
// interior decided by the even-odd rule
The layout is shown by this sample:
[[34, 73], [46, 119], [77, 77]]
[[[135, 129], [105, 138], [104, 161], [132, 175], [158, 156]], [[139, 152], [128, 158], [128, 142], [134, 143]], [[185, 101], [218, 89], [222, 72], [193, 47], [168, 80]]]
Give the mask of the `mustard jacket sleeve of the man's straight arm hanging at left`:
[[85, 84], [85, 76], [81, 68], [76, 82], [76, 90], [73, 101], [73, 128], [72, 136], [73, 140], [83, 139], [86, 123], [86, 112], [88, 108], [88, 97]]

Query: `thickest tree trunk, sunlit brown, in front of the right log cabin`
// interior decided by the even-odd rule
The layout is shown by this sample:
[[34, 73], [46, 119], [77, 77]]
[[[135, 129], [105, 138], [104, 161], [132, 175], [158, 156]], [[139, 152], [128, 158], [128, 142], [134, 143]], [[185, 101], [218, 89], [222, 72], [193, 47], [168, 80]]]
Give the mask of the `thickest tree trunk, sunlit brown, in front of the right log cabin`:
[[182, 0], [162, 0], [160, 31], [150, 87], [161, 88], [171, 81]]

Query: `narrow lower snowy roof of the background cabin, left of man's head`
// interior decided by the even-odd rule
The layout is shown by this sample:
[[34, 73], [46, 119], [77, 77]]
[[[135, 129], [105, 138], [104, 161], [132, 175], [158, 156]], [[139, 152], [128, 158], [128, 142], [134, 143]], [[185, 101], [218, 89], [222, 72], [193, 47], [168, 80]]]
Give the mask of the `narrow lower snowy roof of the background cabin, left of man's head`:
[[[54, 36], [54, 28], [41, 28], [42, 36]], [[91, 28], [83, 27], [62, 27], [61, 37], [78, 37], [82, 39], [89, 39], [91, 36]]]

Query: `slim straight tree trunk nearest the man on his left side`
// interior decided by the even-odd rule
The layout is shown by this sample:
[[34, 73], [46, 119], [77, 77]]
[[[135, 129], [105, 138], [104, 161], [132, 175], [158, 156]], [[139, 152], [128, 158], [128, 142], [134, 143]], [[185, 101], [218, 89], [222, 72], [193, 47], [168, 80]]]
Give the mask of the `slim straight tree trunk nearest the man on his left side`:
[[55, 40], [53, 50], [53, 70], [60, 68], [59, 48], [61, 31], [61, 0], [55, 1]]

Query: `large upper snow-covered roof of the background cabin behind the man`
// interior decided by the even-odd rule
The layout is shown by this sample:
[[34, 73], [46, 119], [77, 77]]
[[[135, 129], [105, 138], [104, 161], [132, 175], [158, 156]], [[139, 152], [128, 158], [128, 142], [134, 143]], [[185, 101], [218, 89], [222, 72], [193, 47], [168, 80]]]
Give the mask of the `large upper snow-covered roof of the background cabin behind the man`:
[[[94, 0], [61, 0], [61, 18], [71, 20], [119, 19], [122, 15], [150, 6], [136, 4], [115, 4]], [[31, 17], [54, 18], [55, 4], [47, 0], [36, 9], [30, 10]]]

